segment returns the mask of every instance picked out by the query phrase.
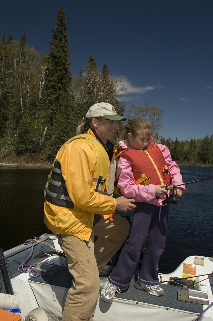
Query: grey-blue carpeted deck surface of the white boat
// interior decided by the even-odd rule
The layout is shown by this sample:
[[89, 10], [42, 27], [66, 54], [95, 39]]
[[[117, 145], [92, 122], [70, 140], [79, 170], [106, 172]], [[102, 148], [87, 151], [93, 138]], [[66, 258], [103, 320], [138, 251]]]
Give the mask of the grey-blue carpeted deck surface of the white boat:
[[[54, 247], [53, 240], [51, 239], [45, 240], [45, 243], [50, 244]], [[31, 249], [32, 247], [24, 246], [23, 251], [19, 253], [16, 253], [14, 255], [5, 255], [10, 278], [14, 278], [20, 275], [20, 273], [18, 272], [18, 266], [21, 265], [22, 262], [26, 260], [26, 258], [30, 255]], [[46, 244], [37, 243], [34, 247], [32, 256], [29, 258], [26, 264], [30, 265], [32, 263], [37, 263], [39, 261], [44, 260], [44, 258], [35, 258], [35, 256], [41, 251], [50, 252], [50, 251], [53, 251], [53, 249]], [[100, 281], [103, 283], [106, 280], [106, 277], [107, 275], [101, 276]], [[42, 275], [42, 276], [37, 276], [36, 278], [33, 278], [31, 280], [34, 282], [47, 283], [47, 284], [52, 284], [52, 285], [56, 285], [64, 288], [70, 288], [72, 285], [72, 276], [70, 275], [66, 265], [60, 265], [60, 270], [57, 273], [55, 273], [54, 276]], [[1, 278], [1, 281], [2, 281], [2, 278]], [[184, 289], [183, 287], [178, 287], [178, 286], [168, 285], [168, 284], [161, 284], [161, 286], [165, 291], [164, 295], [162, 297], [155, 297], [145, 291], [136, 289], [134, 287], [134, 279], [132, 279], [129, 289], [126, 291], [123, 291], [122, 293], [116, 293], [115, 297], [133, 300], [136, 302], [143, 302], [143, 303], [163, 306], [166, 308], [175, 308], [175, 309], [190, 311], [195, 313], [201, 313], [203, 311], [203, 306], [201, 304], [179, 301], [177, 299], [178, 290], [179, 289], [183, 290]], [[212, 281], [211, 281], [211, 287], [213, 290]], [[100, 287], [100, 291], [101, 291], [101, 287]], [[5, 293], [4, 283], [2, 284], [2, 292]]]

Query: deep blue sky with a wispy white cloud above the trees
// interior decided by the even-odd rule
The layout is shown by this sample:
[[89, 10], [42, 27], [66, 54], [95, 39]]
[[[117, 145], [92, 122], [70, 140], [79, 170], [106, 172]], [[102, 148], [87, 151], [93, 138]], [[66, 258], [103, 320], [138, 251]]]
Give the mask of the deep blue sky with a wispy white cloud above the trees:
[[213, 1], [4, 1], [0, 33], [49, 51], [58, 10], [69, 15], [71, 72], [91, 53], [100, 70], [123, 78], [126, 110], [134, 102], [164, 108], [165, 138], [213, 134]]

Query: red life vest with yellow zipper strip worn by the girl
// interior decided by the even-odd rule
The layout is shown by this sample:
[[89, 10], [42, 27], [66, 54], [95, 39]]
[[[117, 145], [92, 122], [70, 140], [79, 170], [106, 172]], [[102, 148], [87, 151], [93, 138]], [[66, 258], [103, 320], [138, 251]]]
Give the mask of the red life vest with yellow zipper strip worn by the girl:
[[171, 178], [160, 148], [150, 143], [145, 150], [127, 149], [119, 156], [131, 160], [135, 184], [169, 185]]

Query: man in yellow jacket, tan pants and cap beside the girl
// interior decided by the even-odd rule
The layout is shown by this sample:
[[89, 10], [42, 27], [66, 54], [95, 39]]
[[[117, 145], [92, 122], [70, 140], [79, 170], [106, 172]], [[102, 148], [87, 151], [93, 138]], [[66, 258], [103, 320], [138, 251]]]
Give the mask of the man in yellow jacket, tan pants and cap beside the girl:
[[62, 321], [93, 320], [99, 272], [129, 233], [128, 222], [113, 214], [136, 207], [134, 199], [112, 197], [115, 148], [110, 140], [119, 120], [126, 118], [111, 104], [90, 107], [78, 135], [58, 151], [45, 186], [44, 221], [57, 234], [74, 278]]

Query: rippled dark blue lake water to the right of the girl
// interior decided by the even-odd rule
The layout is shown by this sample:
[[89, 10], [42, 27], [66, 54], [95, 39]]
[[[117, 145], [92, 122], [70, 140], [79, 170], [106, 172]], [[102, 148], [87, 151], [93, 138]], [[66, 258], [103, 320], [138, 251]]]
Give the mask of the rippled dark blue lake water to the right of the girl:
[[[181, 166], [183, 181], [213, 177], [213, 168]], [[187, 256], [213, 256], [213, 179], [186, 185], [177, 205], [170, 205], [167, 240], [160, 271], [171, 272]]]

